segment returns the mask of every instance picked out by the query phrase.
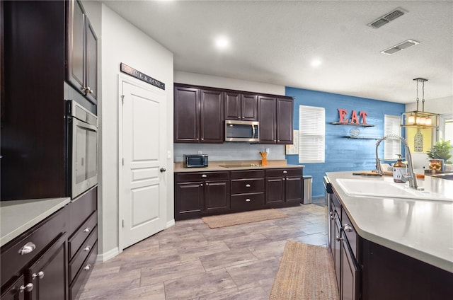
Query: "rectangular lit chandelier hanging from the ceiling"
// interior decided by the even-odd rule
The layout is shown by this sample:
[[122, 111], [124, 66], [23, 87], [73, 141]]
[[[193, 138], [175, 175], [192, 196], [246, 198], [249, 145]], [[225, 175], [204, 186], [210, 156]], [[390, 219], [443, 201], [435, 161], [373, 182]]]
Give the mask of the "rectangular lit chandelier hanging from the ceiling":
[[[401, 127], [415, 127], [415, 128], [436, 128], [438, 127], [438, 116], [435, 113], [425, 112], [425, 82], [428, 79], [415, 78], [417, 82], [417, 109], [411, 112], [406, 112], [401, 115]], [[418, 110], [418, 86], [421, 83], [422, 86], [422, 110]]]

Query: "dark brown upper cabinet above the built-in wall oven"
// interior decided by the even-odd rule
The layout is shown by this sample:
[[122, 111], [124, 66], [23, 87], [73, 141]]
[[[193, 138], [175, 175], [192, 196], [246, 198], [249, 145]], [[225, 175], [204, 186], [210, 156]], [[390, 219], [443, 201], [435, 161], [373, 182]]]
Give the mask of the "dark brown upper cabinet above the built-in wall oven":
[[98, 38], [81, 2], [69, 1], [68, 6], [67, 81], [88, 100], [97, 104]]

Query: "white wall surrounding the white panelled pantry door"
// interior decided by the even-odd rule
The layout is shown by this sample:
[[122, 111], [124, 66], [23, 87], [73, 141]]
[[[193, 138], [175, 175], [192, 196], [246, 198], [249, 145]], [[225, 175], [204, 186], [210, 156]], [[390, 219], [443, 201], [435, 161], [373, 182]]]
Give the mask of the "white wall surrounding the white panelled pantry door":
[[[118, 250], [118, 87], [120, 63], [166, 84], [167, 149], [173, 153], [173, 54], [102, 4], [101, 201], [99, 254], [103, 260]], [[125, 75], [127, 76], [127, 75]], [[131, 77], [132, 79], [132, 77]], [[135, 80], [135, 79], [133, 79]], [[173, 158], [167, 161], [167, 223], [173, 220]]]

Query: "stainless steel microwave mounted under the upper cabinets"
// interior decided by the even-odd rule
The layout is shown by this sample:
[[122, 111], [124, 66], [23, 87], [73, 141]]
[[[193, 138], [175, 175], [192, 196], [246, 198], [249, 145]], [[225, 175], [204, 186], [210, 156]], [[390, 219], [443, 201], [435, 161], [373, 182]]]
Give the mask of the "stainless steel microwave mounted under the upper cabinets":
[[226, 142], [259, 142], [260, 122], [225, 120]]

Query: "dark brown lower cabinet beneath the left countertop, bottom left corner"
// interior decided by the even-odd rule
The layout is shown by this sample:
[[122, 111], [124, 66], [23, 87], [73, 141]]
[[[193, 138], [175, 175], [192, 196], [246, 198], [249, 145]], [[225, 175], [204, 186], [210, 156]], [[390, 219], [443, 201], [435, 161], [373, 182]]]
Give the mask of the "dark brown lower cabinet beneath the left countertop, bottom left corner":
[[1, 300], [68, 299], [68, 219], [66, 206], [1, 247]]

